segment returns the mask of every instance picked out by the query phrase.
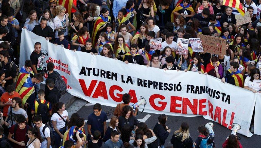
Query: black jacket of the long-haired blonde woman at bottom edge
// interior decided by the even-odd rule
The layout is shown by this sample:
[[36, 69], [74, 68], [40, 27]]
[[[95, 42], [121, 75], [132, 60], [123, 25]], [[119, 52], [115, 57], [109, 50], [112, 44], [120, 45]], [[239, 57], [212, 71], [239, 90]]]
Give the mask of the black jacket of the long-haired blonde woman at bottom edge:
[[171, 138], [171, 143], [173, 144], [173, 148], [192, 148], [193, 147], [193, 140], [192, 138], [189, 136], [189, 140], [184, 140], [183, 142], [182, 140], [182, 136], [180, 137], [175, 137], [175, 135], [173, 134], [172, 138]]

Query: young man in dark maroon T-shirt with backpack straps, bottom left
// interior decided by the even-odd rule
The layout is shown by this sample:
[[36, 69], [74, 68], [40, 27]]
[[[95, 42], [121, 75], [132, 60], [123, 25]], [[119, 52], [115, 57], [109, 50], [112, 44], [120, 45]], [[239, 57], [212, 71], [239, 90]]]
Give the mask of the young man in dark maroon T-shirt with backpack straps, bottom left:
[[29, 140], [27, 134], [30, 127], [26, 124], [26, 118], [21, 114], [16, 116], [15, 121], [17, 124], [9, 129], [8, 140], [13, 143], [15, 148], [26, 148]]

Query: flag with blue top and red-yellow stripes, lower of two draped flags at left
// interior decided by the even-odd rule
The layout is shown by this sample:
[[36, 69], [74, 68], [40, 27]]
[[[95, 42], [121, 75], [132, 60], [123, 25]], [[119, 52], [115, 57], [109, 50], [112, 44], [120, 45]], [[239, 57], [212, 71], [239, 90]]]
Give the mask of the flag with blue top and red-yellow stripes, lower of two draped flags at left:
[[26, 103], [26, 100], [32, 95], [35, 91], [35, 84], [32, 83], [32, 78], [26, 79], [25, 83], [23, 84], [22, 88], [18, 92], [22, 99], [22, 104]]

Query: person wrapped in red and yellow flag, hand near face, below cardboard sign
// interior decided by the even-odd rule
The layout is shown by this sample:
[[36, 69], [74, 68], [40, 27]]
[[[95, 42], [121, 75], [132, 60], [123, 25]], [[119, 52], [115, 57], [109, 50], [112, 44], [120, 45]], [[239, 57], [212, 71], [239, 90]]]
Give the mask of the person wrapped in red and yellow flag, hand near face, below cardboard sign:
[[222, 79], [223, 67], [222, 64], [220, 64], [218, 57], [214, 56], [211, 58], [211, 62], [207, 64], [204, 74], [205, 75], [209, 74], [213, 77]]

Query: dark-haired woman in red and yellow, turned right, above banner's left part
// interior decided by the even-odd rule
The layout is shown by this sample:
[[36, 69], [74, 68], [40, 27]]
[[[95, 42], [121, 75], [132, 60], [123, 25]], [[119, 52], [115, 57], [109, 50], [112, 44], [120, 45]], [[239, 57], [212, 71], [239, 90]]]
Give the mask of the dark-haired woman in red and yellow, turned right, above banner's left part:
[[[81, 29], [79, 29], [79, 31], [77, 32], [77, 35], [75, 35], [72, 38], [72, 45], [76, 46], [77, 50], [81, 50], [85, 48], [85, 43], [86, 41], [90, 38], [90, 33], [88, 32], [88, 28], [86, 26], [82, 27]], [[78, 43], [76, 43], [76, 41]]]

